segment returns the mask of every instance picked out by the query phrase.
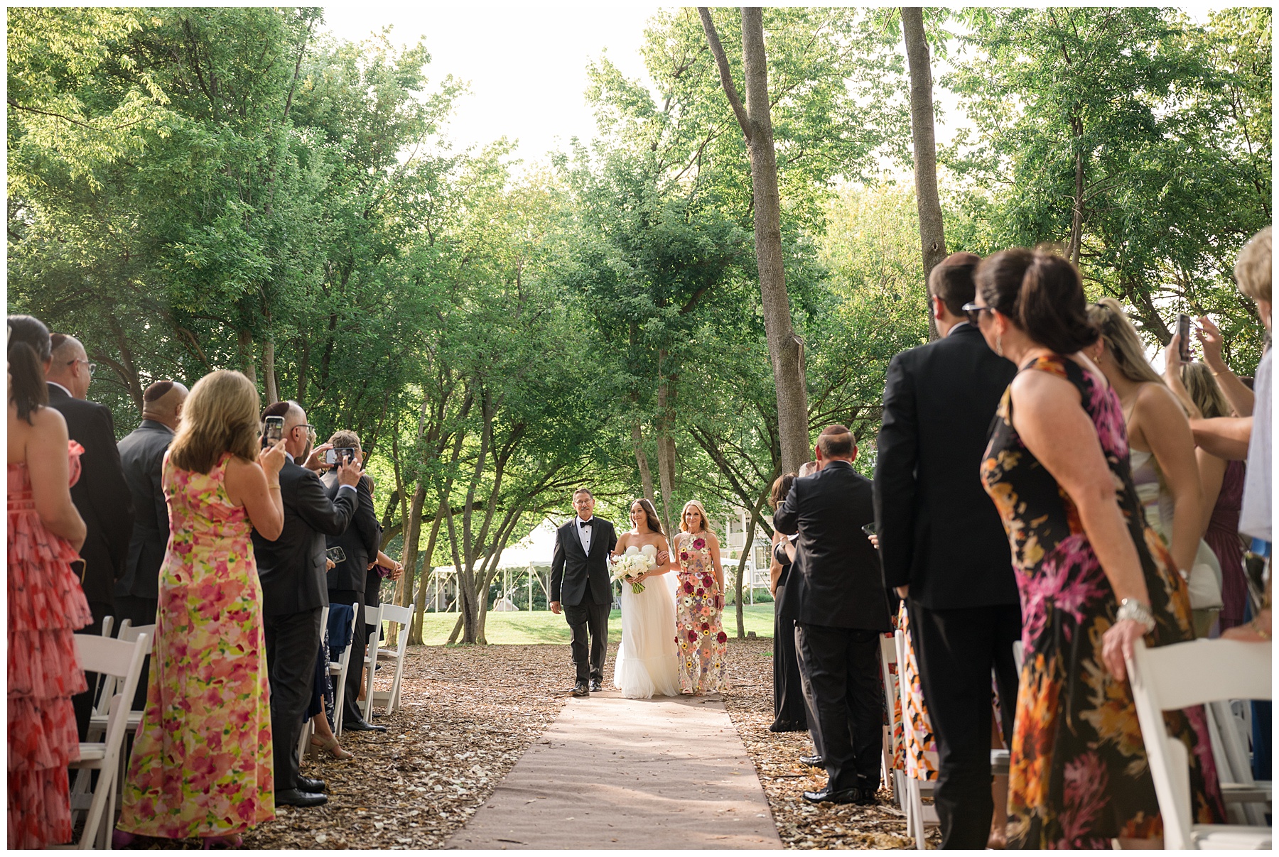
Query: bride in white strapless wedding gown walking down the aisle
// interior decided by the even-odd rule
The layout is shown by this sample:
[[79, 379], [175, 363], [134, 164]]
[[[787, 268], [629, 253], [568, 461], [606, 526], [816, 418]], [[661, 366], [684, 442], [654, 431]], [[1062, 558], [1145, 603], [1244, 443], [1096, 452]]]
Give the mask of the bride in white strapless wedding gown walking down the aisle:
[[[627, 548], [652, 545], [670, 552], [657, 521], [657, 510], [646, 498], [631, 503], [633, 529], [618, 539], [614, 556]], [[679, 654], [675, 644], [675, 598], [670, 561], [645, 572], [642, 593], [622, 584], [622, 645], [613, 668], [613, 683], [628, 699], [679, 695]]]

